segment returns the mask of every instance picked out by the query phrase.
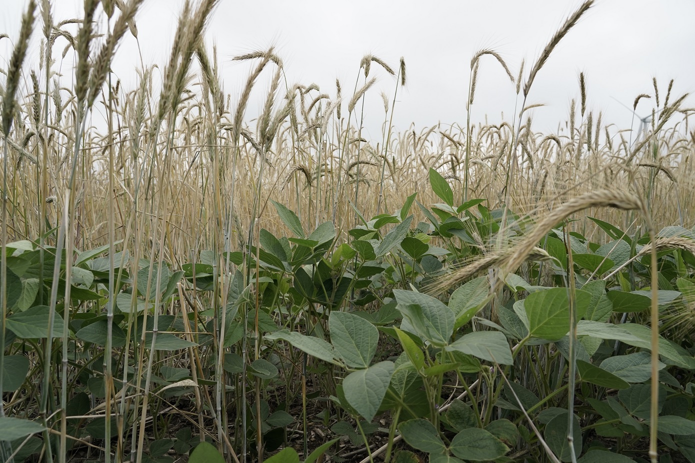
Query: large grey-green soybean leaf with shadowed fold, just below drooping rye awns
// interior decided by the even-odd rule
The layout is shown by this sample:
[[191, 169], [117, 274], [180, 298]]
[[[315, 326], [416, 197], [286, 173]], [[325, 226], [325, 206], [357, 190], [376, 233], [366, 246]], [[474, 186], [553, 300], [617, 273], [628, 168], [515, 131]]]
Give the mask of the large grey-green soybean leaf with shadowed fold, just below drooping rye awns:
[[454, 313], [431, 295], [394, 289], [398, 310], [414, 330], [435, 346], [445, 346], [454, 332]]

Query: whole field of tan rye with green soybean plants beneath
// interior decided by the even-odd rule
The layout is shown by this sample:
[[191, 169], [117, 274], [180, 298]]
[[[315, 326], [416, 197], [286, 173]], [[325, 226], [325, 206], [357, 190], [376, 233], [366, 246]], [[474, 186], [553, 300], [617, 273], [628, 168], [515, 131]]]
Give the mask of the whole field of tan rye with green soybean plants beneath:
[[401, 129], [407, 56], [318, 88], [270, 47], [229, 94], [187, 1], [126, 88], [146, 2], [54, 3], [0, 31], [1, 462], [695, 463], [695, 108], [654, 79], [617, 127], [579, 73], [533, 125], [593, 0], [518, 69], [471, 56], [460, 124]]

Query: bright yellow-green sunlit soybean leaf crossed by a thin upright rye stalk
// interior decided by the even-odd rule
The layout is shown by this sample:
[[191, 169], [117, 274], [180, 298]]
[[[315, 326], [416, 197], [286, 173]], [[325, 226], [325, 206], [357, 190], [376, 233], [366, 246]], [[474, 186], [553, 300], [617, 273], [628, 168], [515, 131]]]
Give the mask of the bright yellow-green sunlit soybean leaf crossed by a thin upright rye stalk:
[[[550, 288], [528, 295], [524, 308], [528, 315], [531, 336], [557, 341], [569, 331], [569, 290]], [[581, 318], [591, 303], [591, 294], [575, 291], [577, 318]]]

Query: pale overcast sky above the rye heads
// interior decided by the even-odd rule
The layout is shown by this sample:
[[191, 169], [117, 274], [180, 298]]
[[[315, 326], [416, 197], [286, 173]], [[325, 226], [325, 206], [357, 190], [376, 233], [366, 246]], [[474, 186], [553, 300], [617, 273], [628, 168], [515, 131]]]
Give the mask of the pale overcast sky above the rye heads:
[[[27, 3], [0, 0], [0, 33], [10, 37], [0, 40], [0, 67], [7, 65]], [[81, 15], [81, 1], [51, 3], [56, 22]], [[145, 0], [136, 18], [138, 41], [126, 34], [112, 66], [123, 88], [136, 85], [140, 54], [145, 65], [164, 67], [182, 5], [183, 0]], [[515, 76], [525, 58], [528, 75], [548, 40], [579, 5], [576, 0], [220, 0], [206, 41], [216, 44], [224, 91], [232, 101], [241, 92], [250, 64], [231, 58], [249, 51], [274, 46], [290, 83], [316, 83], [332, 97], [340, 79], [346, 100], [364, 55], [373, 54], [394, 68], [403, 56], [407, 85], [399, 90], [393, 122], [397, 129], [414, 124], [420, 131], [440, 122], [465, 126], [471, 57], [478, 50], [497, 51]], [[580, 72], [586, 76], [587, 111], [603, 111], [603, 121], [619, 129], [630, 128], [635, 97], [653, 95], [653, 77], [661, 101], [670, 79], [675, 79], [671, 101], [695, 92], [693, 18], [694, 0], [597, 0], [534, 81], [528, 104], [546, 105], [532, 110], [534, 130], [556, 133], [569, 119], [571, 99], [579, 96]], [[65, 44], [62, 40], [56, 46], [56, 65], [68, 74], [73, 56], [70, 51], [60, 58]], [[30, 53], [38, 56], [38, 49], [35, 37]], [[26, 69], [33, 63], [38, 67], [35, 58], [30, 63]], [[259, 113], [272, 73], [266, 70], [259, 80], [247, 120]], [[377, 65], [371, 76], [378, 81], [367, 93], [366, 138], [379, 140], [384, 122], [380, 94], [385, 92], [391, 100], [396, 83]], [[503, 114], [511, 121], [516, 103], [515, 86], [493, 57], [484, 56], [471, 120], [499, 123]], [[654, 104], [654, 99], [641, 100], [635, 129], [639, 117], [650, 115]], [[685, 106], [695, 106], [695, 98], [687, 99]]]

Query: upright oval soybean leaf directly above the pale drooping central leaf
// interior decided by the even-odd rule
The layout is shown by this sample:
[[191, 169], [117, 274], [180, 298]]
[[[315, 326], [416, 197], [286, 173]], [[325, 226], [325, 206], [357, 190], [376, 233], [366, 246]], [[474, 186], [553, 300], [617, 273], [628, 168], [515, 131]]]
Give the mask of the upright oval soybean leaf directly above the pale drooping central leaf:
[[377, 352], [379, 331], [360, 316], [332, 311], [328, 317], [331, 342], [347, 366], [367, 368]]

